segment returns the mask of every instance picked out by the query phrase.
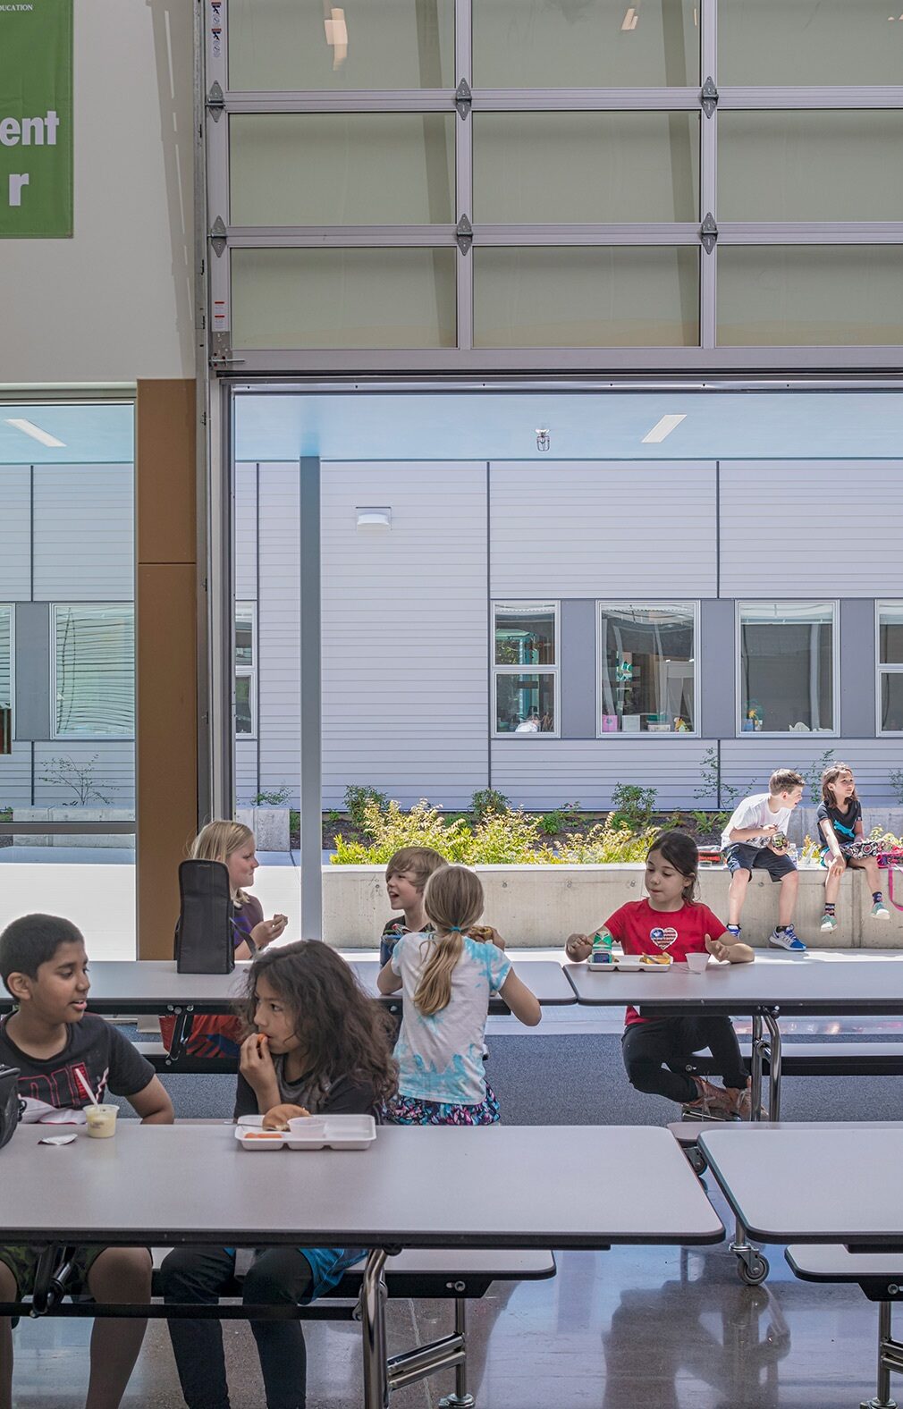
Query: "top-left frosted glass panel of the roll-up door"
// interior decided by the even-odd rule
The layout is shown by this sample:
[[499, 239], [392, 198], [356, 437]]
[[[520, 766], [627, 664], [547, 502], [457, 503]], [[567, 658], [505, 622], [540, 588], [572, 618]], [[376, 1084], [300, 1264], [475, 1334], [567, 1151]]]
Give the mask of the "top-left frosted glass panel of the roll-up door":
[[454, 0], [228, 0], [234, 90], [454, 87]]

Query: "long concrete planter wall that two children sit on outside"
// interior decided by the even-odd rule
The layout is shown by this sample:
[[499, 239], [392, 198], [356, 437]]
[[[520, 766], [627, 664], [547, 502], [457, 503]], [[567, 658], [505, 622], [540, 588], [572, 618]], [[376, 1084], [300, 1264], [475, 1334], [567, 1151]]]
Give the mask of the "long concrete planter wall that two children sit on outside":
[[[592, 933], [618, 906], [642, 898], [642, 865], [475, 867], [486, 890], [486, 920], [518, 948], [556, 947], [573, 930]], [[724, 867], [704, 868], [700, 875], [700, 899], [721, 917], [727, 917], [728, 881]], [[890, 905], [889, 923], [871, 920], [871, 895], [862, 875], [844, 876], [833, 934], [818, 930], [823, 905], [824, 871], [803, 867], [795, 923], [811, 948], [903, 948], [903, 912]], [[778, 886], [766, 875], [755, 875], [742, 913], [744, 940], [755, 945], [766, 943], [776, 906]], [[372, 950], [389, 914], [382, 867], [324, 867], [327, 943]]]

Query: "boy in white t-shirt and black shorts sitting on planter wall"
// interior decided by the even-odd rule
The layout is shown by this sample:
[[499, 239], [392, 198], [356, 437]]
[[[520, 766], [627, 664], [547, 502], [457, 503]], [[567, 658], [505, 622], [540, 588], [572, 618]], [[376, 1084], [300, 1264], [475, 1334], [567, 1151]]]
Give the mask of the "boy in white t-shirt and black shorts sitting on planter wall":
[[768, 779], [766, 793], [745, 797], [733, 812], [721, 833], [721, 851], [731, 872], [727, 892], [727, 929], [740, 936], [740, 912], [755, 869], [765, 869], [780, 883], [778, 924], [768, 937], [776, 950], [802, 954], [806, 945], [793, 929], [793, 906], [799, 872], [789, 854], [787, 823], [803, 796], [806, 779], [792, 768], [778, 768]]

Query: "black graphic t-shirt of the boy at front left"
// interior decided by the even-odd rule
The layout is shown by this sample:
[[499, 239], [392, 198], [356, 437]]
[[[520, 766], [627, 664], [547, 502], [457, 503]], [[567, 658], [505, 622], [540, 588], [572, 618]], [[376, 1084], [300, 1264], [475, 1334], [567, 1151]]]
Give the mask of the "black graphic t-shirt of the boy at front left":
[[18, 1095], [25, 1102], [23, 1122], [27, 1124], [85, 1124], [85, 1106], [90, 1106], [90, 1100], [76, 1071], [97, 1100], [103, 1100], [107, 1091], [114, 1096], [134, 1096], [154, 1078], [151, 1062], [118, 1029], [93, 1013], [86, 1013], [80, 1023], [66, 1023], [63, 1050], [41, 1060], [18, 1050], [7, 1034], [7, 1022], [0, 1019], [0, 1065], [18, 1067]]

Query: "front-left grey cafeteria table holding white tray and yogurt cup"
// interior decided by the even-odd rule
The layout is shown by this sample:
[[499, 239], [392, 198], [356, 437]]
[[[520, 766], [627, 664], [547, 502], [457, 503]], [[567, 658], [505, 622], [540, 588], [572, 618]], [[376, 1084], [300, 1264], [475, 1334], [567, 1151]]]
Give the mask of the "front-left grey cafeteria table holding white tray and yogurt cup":
[[[385, 1409], [394, 1386], [383, 1282], [394, 1251], [703, 1246], [724, 1237], [671, 1134], [644, 1126], [386, 1126], [366, 1151], [270, 1150], [266, 1158], [239, 1148], [232, 1127], [218, 1124], [123, 1120], [113, 1140], [79, 1134], [63, 1148], [38, 1146], [45, 1133], [23, 1126], [0, 1154], [4, 1239], [48, 1250], [44, 1264], [83, 1243], [365, 1248], [365, 1409]], [[487, 1189], [504, 1192], [486, 1198]], [[596, 1198], [593, 1189], [617, 1196]], [[0, 1315], [23, 1309], [0, 1303]], [[65, 1312], [165, 1317], [170, 1308]], [[400, 1374], [399, 1384], [411, 1378], [418, 1375]]]

